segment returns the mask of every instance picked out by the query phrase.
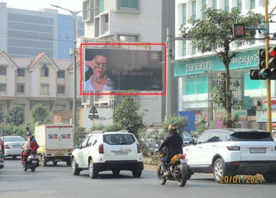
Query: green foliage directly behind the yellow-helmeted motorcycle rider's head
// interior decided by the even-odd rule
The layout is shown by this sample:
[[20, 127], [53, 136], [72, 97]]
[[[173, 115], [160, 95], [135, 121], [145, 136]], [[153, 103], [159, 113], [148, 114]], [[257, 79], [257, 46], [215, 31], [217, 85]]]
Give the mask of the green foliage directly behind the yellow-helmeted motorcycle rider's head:
[[168, 126], [170, 124], [175, 124], [177, 126], [178, 133], [182, 135], [185, 127], [188, 125], [188, 118], [183, 116], [168, 117], [167, 120], [162, 123], [163, 135], [166, 135], [168, 133]]

